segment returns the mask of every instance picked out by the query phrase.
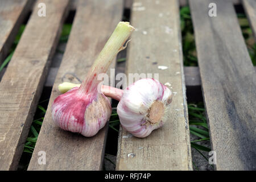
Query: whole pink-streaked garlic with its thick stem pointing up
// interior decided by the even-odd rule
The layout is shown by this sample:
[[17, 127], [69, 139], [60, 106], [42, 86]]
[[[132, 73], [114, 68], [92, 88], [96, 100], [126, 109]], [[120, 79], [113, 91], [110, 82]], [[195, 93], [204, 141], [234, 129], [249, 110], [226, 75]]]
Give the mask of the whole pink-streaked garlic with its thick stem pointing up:
[[58, 96], [52, 104], [52, 119], [61, 129], [92, 137], [105, 126], [112, 108], [109, 100], [98, 92], [97, 76], [106, 73], [114, 57], [134, 28], [129, 22], [119, 22], [108, 42], [94, 61], [80, 87]]

